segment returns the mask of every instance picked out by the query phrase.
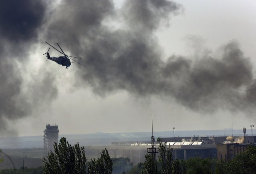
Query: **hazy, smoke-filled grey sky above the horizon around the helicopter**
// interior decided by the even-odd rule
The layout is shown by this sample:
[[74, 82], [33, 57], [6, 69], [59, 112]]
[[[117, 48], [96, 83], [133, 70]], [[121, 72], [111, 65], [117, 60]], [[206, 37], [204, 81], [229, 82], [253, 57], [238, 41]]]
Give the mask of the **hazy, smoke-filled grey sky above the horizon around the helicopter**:
[[[0, 136], [42, 135], [46, 123], [60, 134], [149, 132], [151, 114], [155, 131], [250, 128], [255, 9], [252, 0], [2, 0]], [[45, 41], [87, 68], [46, 62]]]

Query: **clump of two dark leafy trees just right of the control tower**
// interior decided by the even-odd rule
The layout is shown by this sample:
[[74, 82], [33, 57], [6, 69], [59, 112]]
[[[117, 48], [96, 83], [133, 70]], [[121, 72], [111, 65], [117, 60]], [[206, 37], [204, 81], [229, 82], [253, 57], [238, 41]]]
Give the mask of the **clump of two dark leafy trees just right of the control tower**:
[[[71, 146], [66, 138], [60, 138], [60, 143], [54, 143], [54, 152], [43, 158], [45, 174], [85, 174], [85, 148], [79, 143]], [[100, 158], [93, 159], [88, 164], [88, 174], [110, 174], [112, 161], [107, 149], [102, 150]]]

